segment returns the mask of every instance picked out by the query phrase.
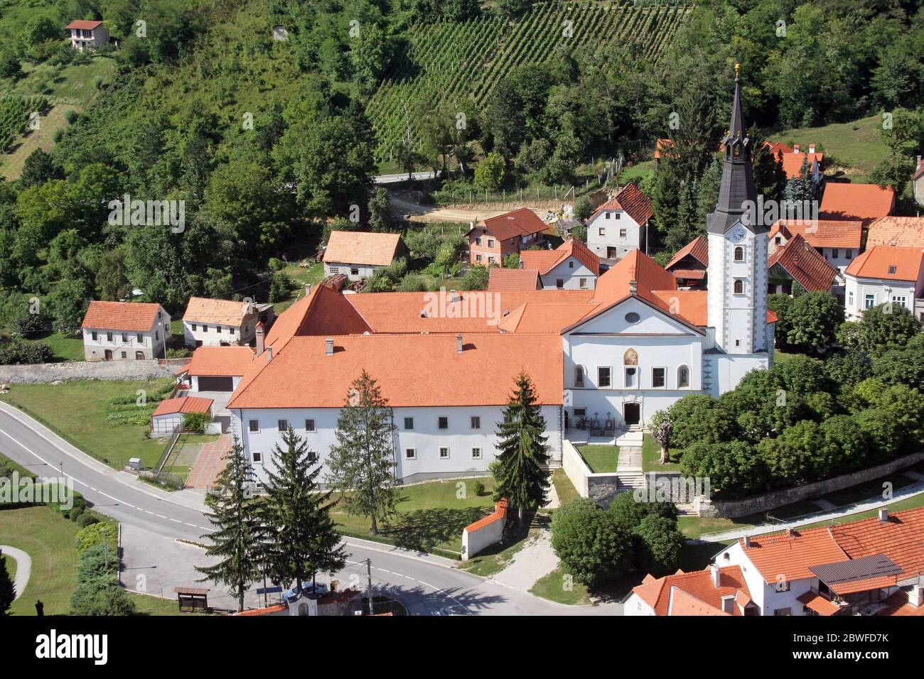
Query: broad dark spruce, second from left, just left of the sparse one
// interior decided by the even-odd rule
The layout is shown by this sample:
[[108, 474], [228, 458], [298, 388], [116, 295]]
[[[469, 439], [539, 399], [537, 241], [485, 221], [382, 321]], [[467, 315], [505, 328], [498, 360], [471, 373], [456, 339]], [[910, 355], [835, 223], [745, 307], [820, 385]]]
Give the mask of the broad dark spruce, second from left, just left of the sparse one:
[[267, 471], [265, 506], [267, 558], [276, 582], [295, 580], [298, 591], [308, 576], [333, 573], [346, 564], [340, 534], [331, 518], [331, 491], [316, 480], [321, 460], [291, 427], [273, 450], [275, 471]]

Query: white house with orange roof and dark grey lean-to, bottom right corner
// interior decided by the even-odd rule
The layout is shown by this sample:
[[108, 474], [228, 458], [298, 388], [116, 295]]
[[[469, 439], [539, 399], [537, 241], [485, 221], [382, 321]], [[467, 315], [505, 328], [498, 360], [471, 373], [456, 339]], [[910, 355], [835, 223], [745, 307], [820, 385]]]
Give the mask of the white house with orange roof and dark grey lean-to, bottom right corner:
[[737, 566], [760, 615], [924, 615], [924, 508], [745, 537], [714, 566]]

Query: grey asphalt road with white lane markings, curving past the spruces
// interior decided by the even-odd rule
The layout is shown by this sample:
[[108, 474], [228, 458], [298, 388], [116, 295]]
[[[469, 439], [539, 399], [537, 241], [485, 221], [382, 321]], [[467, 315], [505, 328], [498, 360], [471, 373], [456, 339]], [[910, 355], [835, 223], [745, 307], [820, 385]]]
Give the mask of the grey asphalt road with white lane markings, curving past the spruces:
[[[65, 442], [42, 424], [12, 406], [0, 403], [0, 453], [43, 478], [71, 479], [74, 489], [93, 509], [128, 527], [163, 536], [201, 541], [211, 532], [195, 491], [167, 492], [146, 486], [132, 475], [116, 471]], [[153, 540], [152, 540], [153, 541]], [[595, 607], [563, 606], [527, 592], [472, 576], [451, 561], [429, 554], [398, 550], [367, 540], [346, 540], [349, 562], [336, 577], [365, 587], [366, 559], [372, 562], [377, 590], [402, 600], [412, 614], [423, 615], [560, 615], [618, 614], [618, 604]], [[152, 545], [152, 558], [158, 552]], [[204, 552], [202, 552], [204, 554]], [[190, 559], [189, 571], [192, 572]], [[191, 576], [190, 576], [191, 577]]]

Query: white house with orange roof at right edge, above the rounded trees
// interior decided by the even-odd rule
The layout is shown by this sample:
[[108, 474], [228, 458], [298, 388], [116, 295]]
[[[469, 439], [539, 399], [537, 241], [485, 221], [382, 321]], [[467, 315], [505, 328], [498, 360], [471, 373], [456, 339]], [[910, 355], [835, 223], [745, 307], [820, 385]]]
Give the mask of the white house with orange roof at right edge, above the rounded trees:
[[905, 307], [924, 321], [924, 250], [877, 245], [845, 271], [845, 316], [859, 321], [864, 309], [886, 302]]

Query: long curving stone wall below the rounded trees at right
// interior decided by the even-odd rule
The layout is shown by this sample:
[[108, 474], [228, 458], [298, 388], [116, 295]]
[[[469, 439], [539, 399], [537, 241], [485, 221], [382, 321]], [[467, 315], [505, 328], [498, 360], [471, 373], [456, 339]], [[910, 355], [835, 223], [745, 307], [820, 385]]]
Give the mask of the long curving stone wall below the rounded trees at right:
[[878, 479], [888, 476], [900, 469], [911, 467], [924, 460], [924, 453], [912, 453], [902, 455], [893, 460], [884, 462], [875, 467], [867, 467], [849, 474], [842, 474], [832, 479], [822, 479], [813, 483], [807, 483], [804, 486], [794, 488], [784, 488], [779, 491], [770, 491], [760, 495], [752, 495], [740, 500], [705, 500], [699, 499], [700, 516], [724, 516], [734, 518], [736, 516], [745, 516], [755, 512], [766, 512], [776, 507], [782, 507], [784, 504], [791, 504], [816, 498], [828, 492], [841, 491], [859, 483], [865, 483], [872, 479]]

